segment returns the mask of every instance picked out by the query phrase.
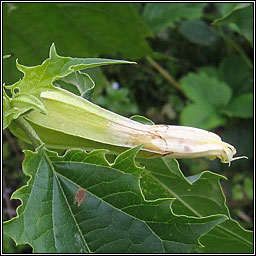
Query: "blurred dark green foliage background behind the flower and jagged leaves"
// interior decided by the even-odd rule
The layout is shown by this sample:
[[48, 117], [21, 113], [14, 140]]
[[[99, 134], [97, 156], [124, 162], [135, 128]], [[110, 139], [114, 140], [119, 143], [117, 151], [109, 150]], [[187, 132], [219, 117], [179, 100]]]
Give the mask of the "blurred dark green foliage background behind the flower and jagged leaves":
[[[3, 3], [3, 82], [22, 77], [15, 61], [41, 64], [54, 42], [71, 57], [136, 61], [86, 72], [93, 102], [130, 117], [188, 125], [219, 134], [246, 155], [228, 167], [204, 158], [179, 160], [185, 175], [222, 174], [231, 216], [253, 228], [252, 3]], [[24, 185], [22, 150], [3, 136], [3, 218], [15, 216], [11, 194]], [[4, 237], [4, 252], [29, 253]]]

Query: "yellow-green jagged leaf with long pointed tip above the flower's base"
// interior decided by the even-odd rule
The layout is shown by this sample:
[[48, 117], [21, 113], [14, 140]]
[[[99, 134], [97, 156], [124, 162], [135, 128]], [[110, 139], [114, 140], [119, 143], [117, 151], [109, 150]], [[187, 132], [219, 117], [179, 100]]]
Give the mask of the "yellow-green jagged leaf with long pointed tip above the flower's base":
[[[134, 63], [123, 60], [101, 58], [71, 58], [61, 57], [56, 53], [54, 44], [50, 48], [50, 57], [41, 65], [26, 67], [17, 62], [17, 68], [24, 73], [24, 77], [11, 86], [6, 86], [11, 93], [10, 104], [5, 104], [5, 127], [12, 119], [18, 118], [28, 110], [45, 113], [39, 98], [44, 90], [54, 89], [53, 82], [75, 85], [82, 97], [91, 97], [94, 83], [87, 74], [77, 73], [81, 69], [98, 67], [109, 64]], [[75, 73], [72, 75], [72, 73]], [[79, 75], [78, 75], [79, 74]], [[67, 78], [66, 78], [67, 77]], [[78, 85], [79, 84], [79, 85]], [[6, 98], [7, 99], [7, 98]]]

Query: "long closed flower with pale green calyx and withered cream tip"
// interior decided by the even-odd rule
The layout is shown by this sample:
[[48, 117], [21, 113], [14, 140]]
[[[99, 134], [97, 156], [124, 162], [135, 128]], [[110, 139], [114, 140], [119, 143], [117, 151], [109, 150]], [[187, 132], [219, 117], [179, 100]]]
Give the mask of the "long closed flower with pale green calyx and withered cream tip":
[[[95, 141], [96, 145], [100, 143], [131, 148], [143, 144], [142, 151], [148, 153], [143, 155], [148, 157], [217, 157], [222, 163], [229, 164], [232, 160], [243, 158], [233, 158], [236, 149], [232, 145], [203, 129], [142, 124], [103, 109], [61, 88], [44, 91], [40, 97], [47, 114], [32, 111], [25, 117], [28, 121], [51, 131]], [[86, 145], [83, 147], [86, 148]]]

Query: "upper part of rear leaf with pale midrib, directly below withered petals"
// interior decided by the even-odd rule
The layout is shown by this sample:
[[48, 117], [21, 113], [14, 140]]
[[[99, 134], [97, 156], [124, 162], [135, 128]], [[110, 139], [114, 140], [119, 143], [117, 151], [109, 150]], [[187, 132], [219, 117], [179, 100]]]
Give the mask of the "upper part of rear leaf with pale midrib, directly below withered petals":
[[139, 159], [138, 162], [145, 166], [140, 185], [146, 200], [175, 198], [172, 209], [176, 215], [229, 216], [219, 183], [224, 176], [205, 171], [186, 178], [178, 162], [169, 158]]

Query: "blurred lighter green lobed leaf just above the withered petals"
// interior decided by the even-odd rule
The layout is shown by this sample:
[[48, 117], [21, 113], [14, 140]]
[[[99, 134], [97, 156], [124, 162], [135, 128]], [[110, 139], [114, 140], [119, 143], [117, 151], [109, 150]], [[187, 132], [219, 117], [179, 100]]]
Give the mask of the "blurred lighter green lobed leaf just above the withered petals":
[[213, 129], [225, 124], [221, 115], [232, 95], [229, 86], [206, 72], [188, 73], [180, 80], [185, 95], [194, 104], [181, 112], [182, 125]]

